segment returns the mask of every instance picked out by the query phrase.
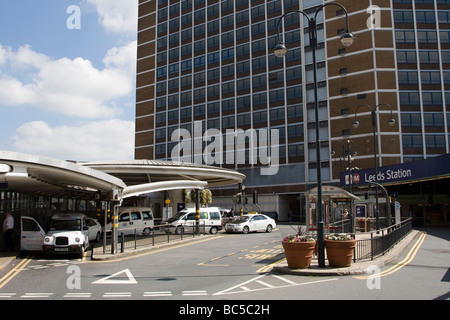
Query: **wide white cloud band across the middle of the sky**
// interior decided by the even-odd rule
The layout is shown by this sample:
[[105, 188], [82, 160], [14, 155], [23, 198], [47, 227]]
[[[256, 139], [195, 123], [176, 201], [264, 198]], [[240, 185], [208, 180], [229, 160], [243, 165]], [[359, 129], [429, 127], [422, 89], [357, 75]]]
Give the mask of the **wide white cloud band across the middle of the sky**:
[[110, 49], [105, 68], [83, 58], [52, 60], [30, 46], [17, 51], [0, 45], [0, 103], [29, 104], [80, 118], [114, 118], [115, 99], [134, 90], [136, 41]]

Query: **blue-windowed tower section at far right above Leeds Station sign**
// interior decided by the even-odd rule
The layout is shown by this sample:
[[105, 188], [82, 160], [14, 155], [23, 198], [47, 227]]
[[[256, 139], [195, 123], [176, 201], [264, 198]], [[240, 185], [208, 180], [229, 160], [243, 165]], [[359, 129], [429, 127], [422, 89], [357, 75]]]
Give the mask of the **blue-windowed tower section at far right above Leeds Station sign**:
[[403, 161], [449, 153], [450, 1], [393, 2]]

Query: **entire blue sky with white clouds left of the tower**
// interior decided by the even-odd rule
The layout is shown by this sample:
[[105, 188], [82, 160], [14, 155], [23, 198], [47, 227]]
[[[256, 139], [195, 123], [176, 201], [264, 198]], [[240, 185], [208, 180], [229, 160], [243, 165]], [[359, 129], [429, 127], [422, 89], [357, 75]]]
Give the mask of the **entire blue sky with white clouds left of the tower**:
[[137, 3], [1, 1], [0, 150], [133, 158]]

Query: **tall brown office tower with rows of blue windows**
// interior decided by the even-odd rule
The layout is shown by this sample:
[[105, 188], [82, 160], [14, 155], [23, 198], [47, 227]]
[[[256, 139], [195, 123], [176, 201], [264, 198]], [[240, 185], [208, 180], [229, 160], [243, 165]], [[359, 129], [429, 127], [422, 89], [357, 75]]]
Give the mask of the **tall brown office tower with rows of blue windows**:
[[323, 183], [339, 183], [348, 146], [362, 169], [374, 167], [375, 155], [385, 166], [448, 152], [450, 1], [337, 2], [349, 13], [351, 47], [340, 42], [344, 10], [321, 8], [330, 1], [140, 0], [135, 157], [233, 168], [247, 175], [247, 188], [297, 201], [317, 180], [302, 14], [280, 24], [285, 58], [273, 48], [284, 13], [313, 17], [318, 8]]

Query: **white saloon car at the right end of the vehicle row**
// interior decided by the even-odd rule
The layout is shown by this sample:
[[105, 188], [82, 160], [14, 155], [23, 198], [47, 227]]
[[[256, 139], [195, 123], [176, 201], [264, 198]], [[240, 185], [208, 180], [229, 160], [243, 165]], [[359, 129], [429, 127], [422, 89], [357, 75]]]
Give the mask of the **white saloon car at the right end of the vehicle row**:
[[225, 231], [244, 234], [256, 231], [272, 232], [276, 226], [275, 220], [264, 214], [245, 214], [225, 224]]

